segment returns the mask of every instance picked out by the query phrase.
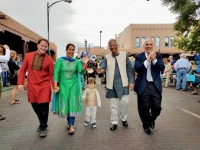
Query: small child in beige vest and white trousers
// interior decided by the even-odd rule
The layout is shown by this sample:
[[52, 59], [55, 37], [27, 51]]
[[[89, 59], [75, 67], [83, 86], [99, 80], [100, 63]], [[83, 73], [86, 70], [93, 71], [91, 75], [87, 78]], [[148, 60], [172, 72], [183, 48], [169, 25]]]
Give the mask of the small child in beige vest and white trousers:
[[86, 88], [83, 93], [83, 100], [86, 101], [86, 117], [84, 124], [88, 126], [91, 120], [92, 127], [96, 128], [97, 106], [101, 107], [101, 99], [98, 90], [94, 88], [96, 84], [95, 79], [92, 77], [88, 78], [87, 84], [88, 88]]

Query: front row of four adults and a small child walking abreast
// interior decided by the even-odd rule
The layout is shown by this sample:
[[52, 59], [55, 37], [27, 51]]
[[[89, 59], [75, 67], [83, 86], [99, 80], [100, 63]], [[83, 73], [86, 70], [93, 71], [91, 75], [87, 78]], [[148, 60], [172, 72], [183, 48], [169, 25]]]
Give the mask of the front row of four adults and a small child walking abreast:
[[[82, 93], [81, 76], [89, 61], [87, 56], [81, 62], [74, 58], [75, 46], [66, 46], [66, 56], [57, 59], [56, 63], [46, 54], [49, 42], [40, 39], [37, 51], [25, 56], [18, 77], [18, 89], [23, 90], [26, 71], [28, 71], [28, 101], [31, 103], [39, 119], [41, 137], [47, 135], [49, 102], [51, 102], [51, 87], [54, 91], [52, 112], [67, 119], [68, 132], [75, 132], [75, 117], [82, 114], [82, 100], [86, 101], [85, 126], [90, 122], [97, 127], [97, 106], [101, 107], [98, 90], [95, 88], [95, 78], [88, 78], [88, 88]], [[160, 72], [164, 70], [164, 63], [160, 53], [153, 51], [154, 43], [149, 38], [144, 43], [144, 52], [135, 57], [136, 81], [133, 66], [125, 52], [118, 50], [115, 39], [108, 41], [111, 51], [106, 55], [97, 74], [106, 72], [106, 98], [110, 101], [111, 126], [117, 129], [119, 121], [128, 127], [127, 109], [129, 92], [135, 90], [138, 100], [138, 112], [144, 132], [151, 134], [155, 127], [155, 120], [161, 112], [162, 83]], [[0, 57], [1, 59], [1, 57]], [[118, 118], [120, 114], [120, 118]]]

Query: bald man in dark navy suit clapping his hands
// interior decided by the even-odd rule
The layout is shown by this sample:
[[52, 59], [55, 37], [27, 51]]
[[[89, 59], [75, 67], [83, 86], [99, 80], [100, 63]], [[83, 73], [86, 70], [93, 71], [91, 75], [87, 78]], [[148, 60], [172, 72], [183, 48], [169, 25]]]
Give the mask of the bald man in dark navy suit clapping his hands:
[[[165, 66], [162, 55], [153, 51], [152, 39], [146, 39], [143, 45], [145, 51], [136, 55], [135, 71], [138, 73], [135, 81], [135, 92], [138, 99], [138, 112], [144, 131], [151, 134], [155, 120], [161, 112], [162, 83], [160, 72]], [[151, 111], [150, 111], [151, 110]]]

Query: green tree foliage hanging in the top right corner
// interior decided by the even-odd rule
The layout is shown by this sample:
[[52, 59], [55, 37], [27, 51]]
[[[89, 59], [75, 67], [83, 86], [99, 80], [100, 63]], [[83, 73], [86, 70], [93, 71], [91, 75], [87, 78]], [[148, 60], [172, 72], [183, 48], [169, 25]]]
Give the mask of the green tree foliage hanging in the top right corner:
[[163, 6], [177, 14], [177, 21], [174, 23], [174, 30], [177, 31], [175, 45], [178, 49], [185, 51], [195, 50], [200, 52], [200, 21], [194, 0], [161, 0]]

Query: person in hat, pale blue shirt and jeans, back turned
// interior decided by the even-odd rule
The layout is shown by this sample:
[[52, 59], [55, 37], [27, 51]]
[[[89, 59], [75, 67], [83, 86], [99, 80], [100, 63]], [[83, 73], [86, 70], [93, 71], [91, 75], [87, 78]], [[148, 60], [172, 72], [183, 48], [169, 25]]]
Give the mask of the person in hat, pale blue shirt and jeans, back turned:
[[182, 90], [186, 91], [187, 86], [187, 73], [190, 70], [190, 62], [186, 59], [186, 55], [181, 53], [180, 59], [174, 65], [177, 78], [176, 90], [180, 90], [181, 79], [182, 79]]

